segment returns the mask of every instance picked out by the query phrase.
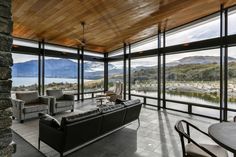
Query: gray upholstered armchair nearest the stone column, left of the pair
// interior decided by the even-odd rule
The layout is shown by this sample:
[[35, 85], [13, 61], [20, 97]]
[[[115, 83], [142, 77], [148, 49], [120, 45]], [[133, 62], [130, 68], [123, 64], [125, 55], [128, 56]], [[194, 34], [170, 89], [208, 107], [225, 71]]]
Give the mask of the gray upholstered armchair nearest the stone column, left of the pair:
[[50, 99], [39, 96], [38, 92], [16, 93], [12, 99], [13, 118], [24, 123], [24, 120], [38, 117], [38, 113], [48, 113]]

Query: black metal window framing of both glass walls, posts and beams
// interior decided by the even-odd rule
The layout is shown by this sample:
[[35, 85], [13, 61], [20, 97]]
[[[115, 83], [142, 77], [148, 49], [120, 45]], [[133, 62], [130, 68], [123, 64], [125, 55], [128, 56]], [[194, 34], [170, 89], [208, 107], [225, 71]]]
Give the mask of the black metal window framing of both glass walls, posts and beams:
[[[232, 7], [230, 7], [232, 8]], [[166, 102], [175, 102], [175, 103], [181, 103], [184, 105], [188, 105], [188, 111], [186, 113], [192, 113], [192, 106], [197, 106], [197, 107], [203, 107], [203, 108], [212, 108], [220, 111], [220, 117], [209, 117], [206, 115], [199, 115], [196, 113], [192, 113], [194, 115], [199, 115], [203, 117], [208, 117], [208, 118], [213, 118], [213, 119], [220, 119], [221, 121], [227, 121], [227, 112], [228, 111], [233, 111], [236, 112], [234, 109], [229, 109], [227, 105], [227, 86], [228, 86], [228, 46], [234, 46], [236, 45], [236, 35], [230, 35], [228, 36], [228, 9], [229, 8], [224, 8], [223, 5], [221, 6], [221, 11], [216, 12], [212, 15], [206, 16], [202, 19], [195, 20], [191, 23], [196, 23], [199, 21], [203, 21], [205, 19], [209, 19], [210, 17], [213, 16], [218, 16], [220, 13], [220, 28], [221, 28], [221, 35], [220, 37], [213, 38], [213, 39], [207, 39], [207, 40], [202, 40], [202, 41], [196, 41], [196, 42], [191, 42], [187, 44], [179, 44], [179, 45], [174, 45], [174, 46], [168, 46], [166, 47], [166, 33], [173, 32], [174, 30], [178, 30], [182, 28], [183, 26], [177, 27], [175, 29], [165, 31], [163, 33], [158, 34], [158, 48], [157, 49], [152, 49], [152, 50], [146, 50], [146, 51], [141, 51], [141, 52], [135, 52], [131, 53], [131, 44], [129, 44], [129, 53], [127, 54], [127, 45], [124, 43], [123, 45], [123, 54], [122, 55], [117, 55], [113, 57], [108, 57], [107, 54], [104, 55], [104, 57], [95, 57], [95, 56], [89, 56], [89, 55], [84, 55], [84, 48], [82, 47], [81, 50], [78, 49], [77, 54], [73, 53], [66, 53], [66, 52], [58, 52], [55, 50], [48, 50], [45, 49], [45, 42], [44, 40], [39, 42], [39, 47], [38, 48], [32, 48], [32, 47], [25, 47], [25, 46], [13, 46], [12, 52], [14, 53], [22, 53], [22, 54], [37, 54], [39, 56], [39, 93], [41, 92], [44, 94], [44, 88], [45, 88], [45, 56], [52, 56], [52, 57], [59, 57], [59, 58], [70, 58], [70, 59], [78, 59], [78, 99], [84, 100], [84, 60], [88, 61], [98, 61], [98, 62], [104, 62], [104, 91], [108, 90], [108, 63], [112, 61], [122, 61], [124, 62], [124, 69], [123, 69], [123, 81], [124, 81], [124, 98], [126, 99], [126, 73], [127, 73], [127, 67], [126, 67], [126, 62], [128, 60], [128, 99], [131, 99], [131, 96], [134, 96], [134, 94], [131, 94], [131, 59], [134, 58], [143, 58], [143, 57], [151, 57], [151, 56], [157, 56], [158, 58], [158, 95], [157, 98], [151, 98], [151, 99], [156, 99], [158, 101], [158, 105], [150, 105], [146, 103], [146, 99], [150, 98], [148, 96], [139, 96], [143, 97], [144, 102], [146, 105], [149, 106], [154, 106], [157, 107], [159, 110], [160, 108], [163, 109], [169, 109], [169, 110], [175, 110], [166, 107]], [[189, 25], [191, 23], [185, 24]], [[161, 35], [163, 37], [161, 37]], [[161, 47], [161, 39], [163, 39], [163, 47]], [[134, 43], [133, 43], [134, 44]], [[56, 44], [53, 44], [56, 45]], [[60, 45], [61, 46], [61, 45]], [[71, 47], [70, 47], [71, 48]], [[182, 102], [182, 101], [174, 101], [174, 100], [168, 100], [165, 97], [165, 63], [166, 63], [166, 55], [169, 54], [177, 54], [177, 53], [186, 53], [186, 52], [193, 52], [193, 51], [199, 51], [199, 50], [208, 50], [208, 49], [215, 49], [219, 48], [220, 51], [220, 107], [212, 107], [209, 105], [202, 105], [202, 104], [193, 104], [193, 103], [188, 103], [188, 102]], [[40, 52], [38, 52], [40, 51]], [[79, 53], [81, 52], [81, 53]], [[163, 61], [163, 66], [161, 67], [161, 58]], [[81, 64], [80, 64], [81, 63]], [[162, 78], [161, 76], [161, 69], [162, 69]], [[81, 78], [80, 78], [81, 77]], [[81, 81], [81, 82], [80, 82]], [[161, 81], [163, 83], [162, 90], [163, 90], [163, 98], [161, 98], [160, 93], [161, 93]], [[81, 83], [81, 86], [80, 86]], [[93, 92], [94, 93], [94, 92]], [[80, 97], [81, 96], [81, 97]], [[137, 95], [136, 95], [137, 96]], [[93, 96], [92, 96], [93, 97]], [[162, 106], [161, 106], [161, 101], [162, 101]], [[176, 110], [175, 110], [176, 111]], [[179, 112], [184, 112], [184, 111], [179, 111]]]

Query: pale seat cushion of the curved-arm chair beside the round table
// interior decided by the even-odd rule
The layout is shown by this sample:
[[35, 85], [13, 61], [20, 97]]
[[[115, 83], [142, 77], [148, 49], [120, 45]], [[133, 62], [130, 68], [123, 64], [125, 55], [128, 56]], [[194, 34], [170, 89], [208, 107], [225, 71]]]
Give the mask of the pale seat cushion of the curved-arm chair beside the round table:
[[[201, 146], [215, 154], [217, 157], [228, 157], [227, 151], [218, 145], [201, 144]], [[186, 145], [186, 153], [187, 157], [211, 157], [193, 143]]]

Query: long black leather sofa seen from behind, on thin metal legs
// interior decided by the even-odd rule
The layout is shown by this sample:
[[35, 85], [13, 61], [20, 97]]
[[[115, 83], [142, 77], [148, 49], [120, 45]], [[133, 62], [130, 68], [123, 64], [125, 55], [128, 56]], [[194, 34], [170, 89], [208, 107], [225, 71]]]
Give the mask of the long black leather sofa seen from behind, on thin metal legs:
[[49, 115], [41, 116], [39, 139], [58, 151], [61, 156], [121, 129], [138, 120], [142, 108], [139, 100], [130, 100], [83, 114], [63, 117], [61, 124]]

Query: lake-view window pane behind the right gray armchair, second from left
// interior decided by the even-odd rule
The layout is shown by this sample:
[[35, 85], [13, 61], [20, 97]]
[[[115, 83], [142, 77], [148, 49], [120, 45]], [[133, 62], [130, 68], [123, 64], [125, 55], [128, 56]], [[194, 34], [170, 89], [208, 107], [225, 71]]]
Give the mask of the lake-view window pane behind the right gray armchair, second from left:
[[77, 93], [77, 60], [45, 57], [45, 89]]

